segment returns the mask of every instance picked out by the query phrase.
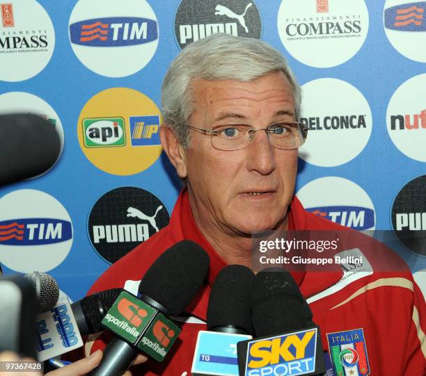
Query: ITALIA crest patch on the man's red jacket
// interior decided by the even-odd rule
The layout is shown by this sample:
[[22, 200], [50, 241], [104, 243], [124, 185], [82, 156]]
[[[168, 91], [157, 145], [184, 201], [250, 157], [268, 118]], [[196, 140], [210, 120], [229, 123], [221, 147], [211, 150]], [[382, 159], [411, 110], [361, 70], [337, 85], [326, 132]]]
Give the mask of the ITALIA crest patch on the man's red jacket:
[[363, 329], [327, 333], [330, 358], [336, 376], [368, 376], [367, 345]]

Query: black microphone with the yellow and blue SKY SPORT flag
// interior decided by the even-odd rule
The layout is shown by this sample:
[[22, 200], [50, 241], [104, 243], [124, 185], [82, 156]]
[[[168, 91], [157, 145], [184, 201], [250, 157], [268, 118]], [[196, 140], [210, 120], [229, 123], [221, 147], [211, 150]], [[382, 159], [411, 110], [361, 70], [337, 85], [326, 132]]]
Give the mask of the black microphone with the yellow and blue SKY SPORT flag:
[[319, 328], [289, 272], [255, 276], [251, 318], [257, 338], [237, 345], [240, 376], [324, 375]]

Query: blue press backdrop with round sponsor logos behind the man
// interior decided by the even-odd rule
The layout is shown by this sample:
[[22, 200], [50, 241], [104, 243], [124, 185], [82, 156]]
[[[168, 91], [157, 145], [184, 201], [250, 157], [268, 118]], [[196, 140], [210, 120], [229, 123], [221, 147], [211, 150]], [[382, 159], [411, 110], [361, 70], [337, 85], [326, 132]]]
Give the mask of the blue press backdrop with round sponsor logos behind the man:
[[425, 243], [400, 240], [426, 229], [426, 1], [0, 0], [0, 10], [0, 113], [45, 117], [63, 142], [49, 172], [0, 188], [5, 272], [49, 272], [78, 300], [166, 226], [179, 183], [159, 142], [161, 81], [181, 49], [223, 31], [274, 46], [302, 85], [306, 209], [390, 231], [426, 293]]

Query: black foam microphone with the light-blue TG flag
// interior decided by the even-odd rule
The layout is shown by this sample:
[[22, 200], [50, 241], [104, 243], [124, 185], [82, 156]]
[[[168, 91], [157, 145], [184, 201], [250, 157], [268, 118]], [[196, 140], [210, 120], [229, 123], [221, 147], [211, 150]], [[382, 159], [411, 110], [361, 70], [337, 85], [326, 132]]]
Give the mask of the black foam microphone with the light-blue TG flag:
[[207, 306], [207, 329], [198, 332], [192, 375], [238, 376], [237, 343], [251, 339], [249, 300], [254, 273], [242, 265], [219, 272]]

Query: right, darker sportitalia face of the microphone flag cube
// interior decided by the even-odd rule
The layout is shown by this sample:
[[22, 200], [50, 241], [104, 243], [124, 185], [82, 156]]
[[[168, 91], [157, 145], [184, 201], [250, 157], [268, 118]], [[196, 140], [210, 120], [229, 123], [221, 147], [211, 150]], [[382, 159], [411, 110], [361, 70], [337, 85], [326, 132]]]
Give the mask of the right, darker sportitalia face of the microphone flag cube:
[[180, 328], [159, 313], [138, 343], [138, 348], [155, 360], [162, 361], [179, 334]]

